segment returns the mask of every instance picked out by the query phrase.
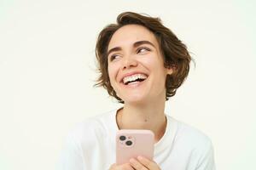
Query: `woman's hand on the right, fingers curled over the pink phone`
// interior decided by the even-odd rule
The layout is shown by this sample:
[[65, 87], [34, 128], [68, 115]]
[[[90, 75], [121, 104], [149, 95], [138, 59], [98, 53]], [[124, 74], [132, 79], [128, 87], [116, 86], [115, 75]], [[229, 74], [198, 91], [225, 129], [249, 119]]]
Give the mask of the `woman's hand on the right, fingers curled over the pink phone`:
[[137, 156], [137, 159], [131, 158], [130, 164], [136, 170], [160, 170], [156, 162], [149, 161], [143, 156]]

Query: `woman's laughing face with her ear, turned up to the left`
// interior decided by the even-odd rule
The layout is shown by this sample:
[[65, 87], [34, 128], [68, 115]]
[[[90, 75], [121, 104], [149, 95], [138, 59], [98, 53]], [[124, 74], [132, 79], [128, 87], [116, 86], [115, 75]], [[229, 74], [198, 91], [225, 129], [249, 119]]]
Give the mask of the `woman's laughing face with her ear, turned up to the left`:
[[151, 31], [137, 25], [119, 28], [108, 44], [110, 83], [125, 104], [166, 99], [166, 75], [159, 44]]

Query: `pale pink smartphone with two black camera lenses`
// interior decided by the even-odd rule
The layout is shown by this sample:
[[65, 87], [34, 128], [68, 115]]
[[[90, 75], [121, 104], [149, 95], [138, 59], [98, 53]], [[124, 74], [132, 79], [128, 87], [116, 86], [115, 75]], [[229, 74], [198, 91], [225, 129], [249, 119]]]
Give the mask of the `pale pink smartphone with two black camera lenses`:
[[116, 134], [116, 164], [128, 163], [132, 157], [137, 156], [153, 160], [154, 133], [141, 129], [119, 130]]

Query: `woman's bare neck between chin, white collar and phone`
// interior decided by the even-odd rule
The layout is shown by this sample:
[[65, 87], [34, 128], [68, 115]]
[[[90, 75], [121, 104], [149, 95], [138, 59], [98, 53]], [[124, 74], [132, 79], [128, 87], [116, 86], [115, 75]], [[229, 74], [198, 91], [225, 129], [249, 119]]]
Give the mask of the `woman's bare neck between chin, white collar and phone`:
[[116, 117], [119, 129], [148, 129], [159, 141], [166, 131], [165, 102], [160, 104], [124, 105]]

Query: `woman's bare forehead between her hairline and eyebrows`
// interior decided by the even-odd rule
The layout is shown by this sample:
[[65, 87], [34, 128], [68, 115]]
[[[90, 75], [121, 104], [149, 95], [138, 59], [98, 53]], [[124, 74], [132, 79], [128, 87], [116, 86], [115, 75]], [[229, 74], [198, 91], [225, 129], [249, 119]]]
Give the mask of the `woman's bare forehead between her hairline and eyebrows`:
[[139, 25], [127, 25], [122, 26], [119, 30], [113, 33], [113, 37], [108, 43], [108, 49], [132, 45], [137, 41], [149, 41], [152, 42], [155, 47], [158, 47], [158, 42], [154, 37], [154, 34], [146, 27]]

